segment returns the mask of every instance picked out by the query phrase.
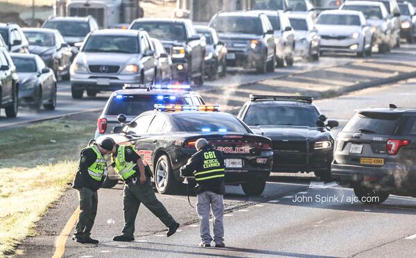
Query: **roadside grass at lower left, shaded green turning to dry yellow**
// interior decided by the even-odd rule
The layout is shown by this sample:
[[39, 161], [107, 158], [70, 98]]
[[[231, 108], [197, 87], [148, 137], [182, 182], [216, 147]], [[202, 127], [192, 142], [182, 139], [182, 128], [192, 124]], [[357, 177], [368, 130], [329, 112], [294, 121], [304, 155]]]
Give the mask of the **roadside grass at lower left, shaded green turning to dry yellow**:
[[35, 234], [35, 222], [71, 182], [94, 128], [59, 119], [0, 132], [0, 257]]

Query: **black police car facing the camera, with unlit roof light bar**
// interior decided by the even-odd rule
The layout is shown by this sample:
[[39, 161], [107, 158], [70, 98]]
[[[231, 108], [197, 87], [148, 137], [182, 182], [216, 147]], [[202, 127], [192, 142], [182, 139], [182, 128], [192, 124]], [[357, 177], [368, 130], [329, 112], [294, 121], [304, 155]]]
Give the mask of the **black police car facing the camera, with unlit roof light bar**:
[[307, 96], [250, 95], [239, 118], [259, 135], [272, 139], [272, 172], [315, 172], [331, 179], [333, 136], [338, 121], [320, 114]]

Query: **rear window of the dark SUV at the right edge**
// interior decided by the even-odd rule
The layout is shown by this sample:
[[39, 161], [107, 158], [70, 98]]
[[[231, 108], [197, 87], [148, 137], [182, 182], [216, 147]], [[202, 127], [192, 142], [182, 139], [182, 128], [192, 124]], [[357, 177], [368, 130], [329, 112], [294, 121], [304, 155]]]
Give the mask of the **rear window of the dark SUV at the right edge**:
[[394, 135], [399, 116], [392, 114], [355, 114], [343, 132], [363, 132], [374, 135]]

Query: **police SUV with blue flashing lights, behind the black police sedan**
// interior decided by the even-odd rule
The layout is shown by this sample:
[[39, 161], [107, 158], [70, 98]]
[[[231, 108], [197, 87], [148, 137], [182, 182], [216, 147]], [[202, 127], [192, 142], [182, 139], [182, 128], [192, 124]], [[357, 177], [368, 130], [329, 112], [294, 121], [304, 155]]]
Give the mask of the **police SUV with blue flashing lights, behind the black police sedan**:
[[155, 104], [204, 105], [205, 102], [189, 85], [124, 85], [108, 98], [97, 120], [95, 138], [112, 133], [114, 126], [119, 125], [119, 114], [125, 114], [129, 122], [142, 112], [153, 110]]

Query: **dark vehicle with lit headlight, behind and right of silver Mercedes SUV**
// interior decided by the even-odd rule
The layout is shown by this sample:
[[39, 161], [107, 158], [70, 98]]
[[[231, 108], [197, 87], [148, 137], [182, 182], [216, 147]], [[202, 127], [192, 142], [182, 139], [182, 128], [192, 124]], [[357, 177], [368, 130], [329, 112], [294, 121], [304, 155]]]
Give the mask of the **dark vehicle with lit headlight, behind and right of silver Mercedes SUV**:
[[203, 85], [205, 76], [205, 41], [196, 33], [189, 19], [135, 19], [129, 29], [147, 31], [160, 40], [171, 55], [173, 80]]

